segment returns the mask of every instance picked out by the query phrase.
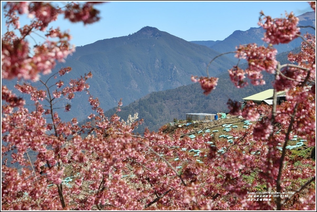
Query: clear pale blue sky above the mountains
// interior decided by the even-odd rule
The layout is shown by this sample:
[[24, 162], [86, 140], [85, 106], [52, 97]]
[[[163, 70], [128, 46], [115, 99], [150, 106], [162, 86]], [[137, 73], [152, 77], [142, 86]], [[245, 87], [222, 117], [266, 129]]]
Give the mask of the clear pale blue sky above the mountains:
[[[306, 1], [112, 1], [96, 8], [100, 10], [99, 22], [84, 26], [60, 16], [54, 25], [69, 29], [75, 46], [133, 34], [145, 26], [186, 41], [216, 41], [235, 30], [259, 27], [261, 10], [272, 17], [284, 17], [285, 11], [296, 16], [312, 11]], [[21, 23], [26, 20], [22, 17]], [[2, 18], [2, 27], [3, 23]]]

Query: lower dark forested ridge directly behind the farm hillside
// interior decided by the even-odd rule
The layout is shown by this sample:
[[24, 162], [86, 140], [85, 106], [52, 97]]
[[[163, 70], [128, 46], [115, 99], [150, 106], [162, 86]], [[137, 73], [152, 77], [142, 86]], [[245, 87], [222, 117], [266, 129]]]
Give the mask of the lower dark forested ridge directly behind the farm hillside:
[[[298, 52], [299, 49], [294, 49]], [[289, 63], [286, 52], [277, 55], [277, 60], [281, 64]], [[240, 65], [245, 69], [247, 63]], [[142, 133], [144, 128], [150, 131], [157, 131], [162, 125], [173, 122], [174, 119], [186, 119], [186, 113], [217, 113], [219, 111], [229, 112], [228, 99], [241, 101], [242, 98], [262, 92], [272, 88], [271, 82], [274, 75], [262, 72], [266, 84], [263, 86], [249, 86], [236, 88], [230, 81], [228, 72], [218, 74], [218, 85], [208, 96], [203, 94], [199, 83], [192, 83], [166, 91], [152, 92], [145, 97], [134, 101], [128, 106], [121, 108], [117, 114], [121, 119], [126, 120], [129, 114], [133, 116], [138, 112], [139, 119], [144, 119], [144, 123], [135, 132]], [[116, 108], [105, 112], [110, 117], [115, 113]]]

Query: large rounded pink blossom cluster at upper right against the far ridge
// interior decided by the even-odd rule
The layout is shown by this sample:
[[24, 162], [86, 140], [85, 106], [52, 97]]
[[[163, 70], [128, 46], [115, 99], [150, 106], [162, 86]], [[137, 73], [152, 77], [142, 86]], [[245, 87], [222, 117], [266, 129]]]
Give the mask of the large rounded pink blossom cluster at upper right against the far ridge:
[[[261, 15], [264, 16], [263, 12]], [[299, 19], [294, 16], [293, 12], [285, 14], [286, 18], [272, 19], [270, 16], [264, 16], [265, 22], [262, 23], [260, 18], [259, 26], [266, 30], [263, 41], [271, 44], [288, 43], [297, 37], [300, 28], [297, 27]]]

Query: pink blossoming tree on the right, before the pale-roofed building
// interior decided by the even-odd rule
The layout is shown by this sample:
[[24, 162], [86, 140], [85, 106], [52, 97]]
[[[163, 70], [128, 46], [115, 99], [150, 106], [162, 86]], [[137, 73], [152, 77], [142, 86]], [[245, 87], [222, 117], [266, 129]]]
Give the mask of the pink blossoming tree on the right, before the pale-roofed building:
[[[315, 11], [315, 2], [309, 2], [309, 4]], [[235, 53], [238, 59], [246, 59], [248, 62], [246, 70], [236, 65], [229, 70], [229, 75], [236, 87], [240, 88], [248, 85], [245, 75], [253, 85], [263, 85], [265, 81], [262, 79], [261, 72], [266, 71], [269, 74], [274, 74], [275, 80], [272, 82], [274, 88], [273, 105], [268, 108], [265, 105], [256, 105], [250, 101], [241, 110], [239, 102], [229, 100], [228, 107], [231, 114], [242, 115], [245, 119], [252, 121], [257, 121], [260, 114], [264, 114], [268, 118], [257, 121], [256, 125], [250, 127], [248, 131], [251, 136], [245, 135], [246, 138], [249, 138], [241, 139], [236, 142], [236, 145], [250, 145], [252, 141], [256, 141], [256, 144], [252, 144], [251, 149], [259, 151], [259, 156], [256, 157], [259, 162], [252, 163], [256, 159], [254, 157], [250, 158], [245, 155], [242, 157], [245, 161], [251, 160], [249, 162], [256, 165], [257, 184], [264, 183], [266, 184], [266, 192], [275, 190], [278, 194], [275, 195], [274, 207], [270, 202], [266, 203], [265, 207], [281, 210], [287, 209], [285, 203], [292, 198], [294, 199], [296, 193], [305, 189], [308, 184], [315, 182], [314, 162], [302, 160], [301, 163], [310, 163], [311, 166], [304, 168], [305, 171], [299, 170], [294, 166], [298, 158], [290, 157], [287, 147], [295, 132], [302, 138], [308, 139], [307, 146], [315, 146], [316, 41], [314, 35], [300, 35], [300, 28], [297, 27], [299, 19], [292, 12], [290, 14], [286, 13], [285, 18], [275, 19], [265, 16], [262, 11], [260, 15], [259, 25], [265, 29], [263, 41], [268, 43], [268, 47], [257, 46], [252, 43], [240, 45], [235, 52], [229, 52]], [[291, 63], [281, 65], [275, 58], [277, 51], [272, 45], [288, 43], [296, 38], [303, 40], [301, 52], [298, 54], [289, 53], [288, 60]], [[222, 55], [229, 53], [223, 53]], [[217, 86], [217, 78], [208, 77], [208, 67], [207, 77], [200, 77], [197, 80], [197, 76], [193, 76], [192, 80], [201, 84], [205, 94], [210, 93]], [[277, 105], [277, 92], [279, 91], [286, 91], [287, 102], [281, 105]], [[282, 148], [276, 148], [281, 144]], [[238, 163], [233, 164], [239, 165]], [[241, 176], [241, 172], [236, 174]], [[304, 183], [294, 185], [294, 176], [305, 179]], [[236, 187], [232, 188], [233, 191], [236, 191], [236, 189]], [[285, 196], [281, 194], [283, 192], [287, 193], [287, 190], [293, 190], [294, 194], [283, 198]], [[293, 207], [296, 209], [315, 209], [315, 190], [309, 190], [309, 196], [307, 197], [306, 200], [301, 199], [301, 202], [295, 203]], [[301, 203], [307, 205], [300, 205]]]

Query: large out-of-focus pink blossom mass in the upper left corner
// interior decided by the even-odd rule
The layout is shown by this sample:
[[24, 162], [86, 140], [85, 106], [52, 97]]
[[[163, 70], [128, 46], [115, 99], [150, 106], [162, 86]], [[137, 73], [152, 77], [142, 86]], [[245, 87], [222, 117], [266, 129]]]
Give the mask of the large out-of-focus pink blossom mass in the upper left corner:
[[[7, 27], [9, 29], [12, 26], [19, 30], [21, 35], [18, 37], [14, 31], [9, 31], [2, 37], [2, 78], [38, 80], [39, 73], [51, 73], [56, 61], [64, 61], [75, 50], [70, 47], [71, 36], [61, 32], [58, 27], [51, 28], [45, 35], [47, 39], [36, 45], [32, 54], [25, 38], [35, 30], [45, 31], [49, 23], [56, 21], [58, 15], [62, 13], [65, 13], [65, 16], [73, 22], [82, 21], [87, 24], [98, 21], [99, 11], [94, 9], [93, 5], [93, 2], [85, 3], [82, 7], [77, 3], [69, 3], [63, 11], [47, 2], [8, 2], [5, 5], [8, 11], [6, 13]], [[70, 14], [73, 10], [76, 12]], [[31, 24], [20, 28], [16, 11], [19, 14], [29, 14], [34, 17], [34, 20]], [[76, 17], [72, 18], [72, 16]], [[50, 41], [50, 38], [55, 40]]]

